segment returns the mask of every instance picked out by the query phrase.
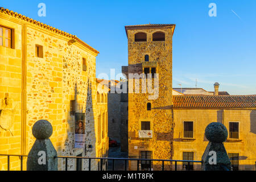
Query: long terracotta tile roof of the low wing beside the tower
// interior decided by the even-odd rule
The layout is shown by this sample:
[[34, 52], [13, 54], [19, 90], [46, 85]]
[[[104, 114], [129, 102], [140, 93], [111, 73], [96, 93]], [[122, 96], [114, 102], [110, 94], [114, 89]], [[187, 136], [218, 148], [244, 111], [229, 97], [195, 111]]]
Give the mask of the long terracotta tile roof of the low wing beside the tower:
[[172, 96], [174, 108], [212, 107], [212, 108], [255, 108], [256, 95], [249, 96]]

